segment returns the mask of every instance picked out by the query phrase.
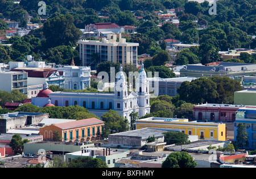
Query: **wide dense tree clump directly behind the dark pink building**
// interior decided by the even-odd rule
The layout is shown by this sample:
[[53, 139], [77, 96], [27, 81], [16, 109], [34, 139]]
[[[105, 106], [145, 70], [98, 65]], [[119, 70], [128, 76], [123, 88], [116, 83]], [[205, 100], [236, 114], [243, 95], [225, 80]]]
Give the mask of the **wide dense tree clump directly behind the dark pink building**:
[[229, 77], [201, 77], [191, 82], [185, 81], [177, 92], [180, 99], [190, 103], [230, 103], [233, 104], [234, 91], [242, 90], [239, 81]]

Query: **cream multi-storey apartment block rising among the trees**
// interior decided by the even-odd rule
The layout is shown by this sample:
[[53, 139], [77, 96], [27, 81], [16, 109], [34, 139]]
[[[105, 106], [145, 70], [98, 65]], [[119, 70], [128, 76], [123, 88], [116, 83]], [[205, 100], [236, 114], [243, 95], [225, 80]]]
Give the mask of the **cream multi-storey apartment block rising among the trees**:
[[[126, 39], [121, 38], [119, 41], [117, 35], [108, 35], [107, 39], [99, 40], [79, 40], [80, 60], [82, 66], [90, 66], [96, 69], [97, 64], [104, 61], [112, 61], [121, 63], [122, 65], [133, 63], [137, 65], [138, 43], [127, 43]], [[98, 60], [95, 56], [98, 55]]]

